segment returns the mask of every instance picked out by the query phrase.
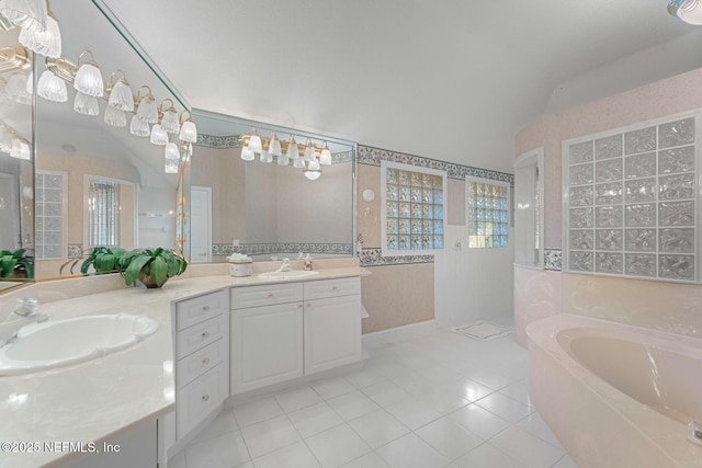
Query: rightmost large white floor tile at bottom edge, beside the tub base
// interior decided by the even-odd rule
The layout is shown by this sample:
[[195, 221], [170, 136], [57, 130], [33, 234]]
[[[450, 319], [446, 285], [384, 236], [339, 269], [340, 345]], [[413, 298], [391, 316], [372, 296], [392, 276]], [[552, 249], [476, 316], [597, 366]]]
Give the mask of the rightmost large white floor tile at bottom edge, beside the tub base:
[[564, 455], [563, 450], [516, 425], [491, 438], [489, 444], [533, 468], [550, 467]]

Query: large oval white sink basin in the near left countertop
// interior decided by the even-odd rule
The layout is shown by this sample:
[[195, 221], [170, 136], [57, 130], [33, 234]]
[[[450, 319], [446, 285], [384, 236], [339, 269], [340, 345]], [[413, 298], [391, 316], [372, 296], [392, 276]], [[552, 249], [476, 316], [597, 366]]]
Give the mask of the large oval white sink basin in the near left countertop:
[[149, 317], [84, 316], [22, 327], [0, 347], [0, 376], [82, 363], [129, 347], [158, 329]]

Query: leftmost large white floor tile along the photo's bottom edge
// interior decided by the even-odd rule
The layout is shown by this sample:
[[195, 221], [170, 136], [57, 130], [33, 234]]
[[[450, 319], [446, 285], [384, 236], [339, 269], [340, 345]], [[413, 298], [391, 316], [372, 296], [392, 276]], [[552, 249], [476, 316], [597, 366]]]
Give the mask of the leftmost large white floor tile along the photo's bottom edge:
[[231, 468], [249, 458], [249, 452], [239, 431], [185, 447], [188, 468]]

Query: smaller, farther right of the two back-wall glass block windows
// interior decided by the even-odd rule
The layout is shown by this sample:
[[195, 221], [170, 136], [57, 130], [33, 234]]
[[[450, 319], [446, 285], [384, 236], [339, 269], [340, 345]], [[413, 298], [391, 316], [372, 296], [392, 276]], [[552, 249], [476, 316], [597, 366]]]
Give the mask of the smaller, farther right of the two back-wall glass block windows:
[[508, 246], [509, 184], [466, 178], [468, 248]]

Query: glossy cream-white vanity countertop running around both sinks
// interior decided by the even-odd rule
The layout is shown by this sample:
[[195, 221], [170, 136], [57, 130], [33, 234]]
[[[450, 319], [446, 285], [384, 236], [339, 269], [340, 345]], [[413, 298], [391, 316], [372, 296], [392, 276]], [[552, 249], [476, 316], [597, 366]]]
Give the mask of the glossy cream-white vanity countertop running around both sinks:
[[[319, 275], [296, 282], [367, 274], [359, 266], [317, 271]], [[81, 281], [68, 279], [66, 282], [71, 283], [66, 287], [80, 288]], [[45, 297], [61, 296], [61, 283], [64, 281], [39, 283], [23, 288], [21, 297], [34, 297], [33, 288], [42, 288], [38, 295], [44, 297], [41, 310], [53, 319], [128, 312], [147, 315], [160, 327], [145, 341], [105, 357], [36, 374], [0, 377], [0, 443], [38, 443], [41, 448], [36, 453], [0, 450], [0, 467], [64, 463], [66, 457], [78, 454], [46, 452], [44, 443], [94, 442], [101, 445], [141, 422], [172, 411], [176, 392], [171, 301], [223, 288], [291, 281], [262, 279], [256, 274], [242, 278], [196, 276], [171, 279], [161, 289], [123, 286], [116, 290], [46, 301]], [[52, 287], [56, 288], [53, 294], [46, 290]]]

